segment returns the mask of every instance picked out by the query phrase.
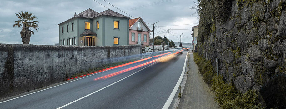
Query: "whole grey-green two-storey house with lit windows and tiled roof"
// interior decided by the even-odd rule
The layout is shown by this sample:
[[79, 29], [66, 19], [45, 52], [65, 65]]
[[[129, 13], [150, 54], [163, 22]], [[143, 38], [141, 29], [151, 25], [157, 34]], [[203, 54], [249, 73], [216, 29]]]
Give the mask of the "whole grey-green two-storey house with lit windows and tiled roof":
[[129, 17], [87, 9], [59, 26], [60, 45], [129, 45]]

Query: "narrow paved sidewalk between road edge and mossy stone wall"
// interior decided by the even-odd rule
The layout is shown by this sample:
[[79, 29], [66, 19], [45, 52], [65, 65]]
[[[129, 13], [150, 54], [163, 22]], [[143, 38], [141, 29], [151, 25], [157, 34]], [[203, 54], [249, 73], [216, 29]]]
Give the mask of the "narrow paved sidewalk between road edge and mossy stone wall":
[[190, 72], [178, 109], [217, 109], [218, 105], [213, 99], [214, 93], [210, 91], [208, 85], [203, 81], [203, 77], [199, 74], [198, 66], [193, 60], [193, 53], [189, 54]]

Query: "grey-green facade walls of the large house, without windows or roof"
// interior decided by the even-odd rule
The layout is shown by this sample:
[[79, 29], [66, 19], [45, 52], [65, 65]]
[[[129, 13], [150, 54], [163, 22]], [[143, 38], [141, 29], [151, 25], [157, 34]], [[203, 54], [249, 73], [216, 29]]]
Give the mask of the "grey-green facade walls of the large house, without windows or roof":
[[[99, 21], [99, 29], [96, 29], [96, 22]], [[119, 21], [119, 29], [114, 29], [114, 21]], [[74, 23], [74, 31], [71, 31], [71, 23]], [[118, 45], [129, 45], [129, 19], [122, 17], [112, 17], [101, 15], [92, 19], [75, 17], [66, 22], [59, 24], [59, 43], [65, 39], [67, 45], [67, 38], [77, 37], [76, 45], [84, 45], [80, 43], [80, 34], [87, 31], [85, 30], [85, 22], [90, 22], [90, 31], [97, 34], [95, 45], [98, 46], [113, 46], [114, 37], [119, 37]], [[69, 25], [69, 32], [67, 32], [67, 25]], [[62, 26], [64, 33], [62, 33]]]

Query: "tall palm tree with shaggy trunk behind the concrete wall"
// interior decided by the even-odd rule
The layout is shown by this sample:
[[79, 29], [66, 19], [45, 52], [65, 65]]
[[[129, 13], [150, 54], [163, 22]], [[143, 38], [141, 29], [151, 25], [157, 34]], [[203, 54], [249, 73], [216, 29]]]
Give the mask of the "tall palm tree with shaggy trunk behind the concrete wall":
[[28, 11], [26, 12], [21, 11], [21, 13], [18, 12], [18, 14], [17, 13], [15, 14], [18, 17], [18, 21], [15, 21], [13, 27], [20, 28], [22, 26], [22, 30], [20, 32], [22, 43], [29, 44], [31, 34], [34, 35], [34, 32], [31, 30], [31, 28], [36, 29], [36, 31], [38, 32], [37, 28], [39, 29], [39, 27], [37, 23], [39, 23], [39, 21], [35, 21], [37, 17], [32, 16], [33, 13], [29, 13]]

